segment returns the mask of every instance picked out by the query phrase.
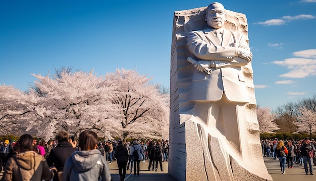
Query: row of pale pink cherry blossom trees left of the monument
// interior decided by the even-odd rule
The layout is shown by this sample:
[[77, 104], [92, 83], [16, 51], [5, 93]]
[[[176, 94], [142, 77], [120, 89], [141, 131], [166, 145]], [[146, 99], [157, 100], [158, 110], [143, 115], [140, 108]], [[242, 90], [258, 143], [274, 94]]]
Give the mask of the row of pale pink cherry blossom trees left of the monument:
[[105, 76], [62, 69], [37, 78], [28, 93], [0, 86], [0, 130], [45, 140], [60, 130], [100, 137], [169, 138], [169, 96], [134, 70]]

